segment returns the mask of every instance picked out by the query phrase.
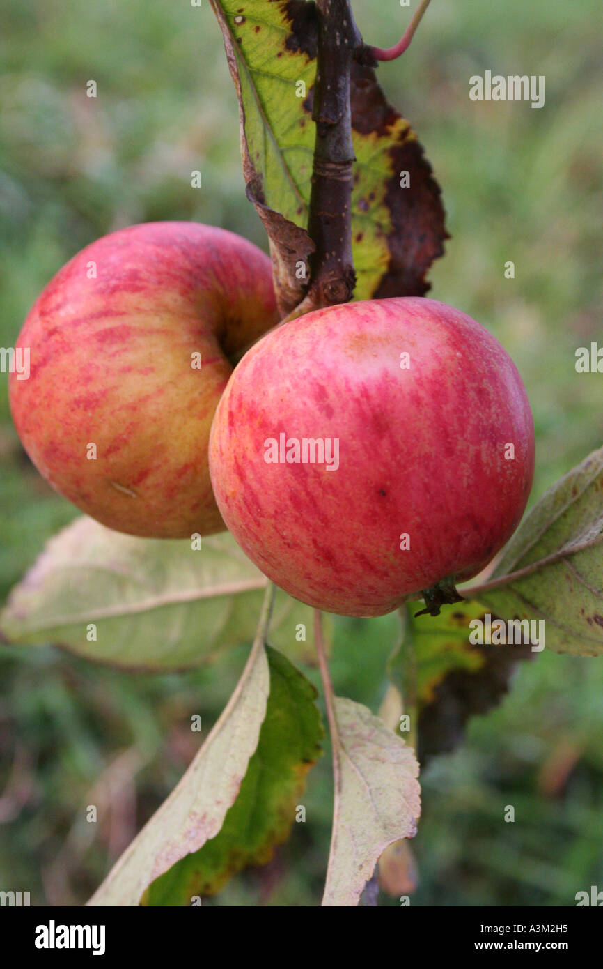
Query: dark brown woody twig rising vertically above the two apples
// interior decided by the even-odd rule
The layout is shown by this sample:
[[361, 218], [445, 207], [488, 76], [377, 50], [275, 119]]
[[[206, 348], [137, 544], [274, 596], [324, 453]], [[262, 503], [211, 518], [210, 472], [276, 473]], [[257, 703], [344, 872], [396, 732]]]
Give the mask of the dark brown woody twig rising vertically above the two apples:
[[349, 75], [362, 39], [349, 0], [317, 0], [318, 52], [313, 118], [317, 125], [308, 233], [316, 245], [311, 283], [295, 315], [347, 302], [356, 274], [351, 256]]

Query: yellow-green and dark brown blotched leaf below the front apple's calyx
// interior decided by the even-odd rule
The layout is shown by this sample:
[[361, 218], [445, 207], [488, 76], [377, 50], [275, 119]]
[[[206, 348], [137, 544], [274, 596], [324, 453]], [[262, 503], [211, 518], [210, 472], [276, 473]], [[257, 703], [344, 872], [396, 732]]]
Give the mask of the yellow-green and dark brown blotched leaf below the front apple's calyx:
[[390, 657], [388, 675], [398, 695], [407, 699], [407, 657], [414, 657], [411, 691], [416, 692], [418, 753], [424, 766], [431, 757], [454, 750], [472, 715], [486, 713], [500, 703], [516, 664], [532, 659], [534, 653], [529, 645], [470, 643], [469, 622], [485, 620], [481, 603], [456, 603], [437, 616], [417, 616], [421, 605], [407, 604], [404, 640]]

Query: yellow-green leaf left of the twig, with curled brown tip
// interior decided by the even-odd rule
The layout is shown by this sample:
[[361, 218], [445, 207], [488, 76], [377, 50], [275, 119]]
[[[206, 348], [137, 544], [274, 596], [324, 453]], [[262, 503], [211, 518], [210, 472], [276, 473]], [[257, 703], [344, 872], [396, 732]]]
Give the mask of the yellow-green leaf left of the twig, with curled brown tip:
[[314, 122], [301, 108], [295, 85], [312, 85], [316, 62], [303, 47], [287, 43], [285, 3], [261, 8], [241, 0], [210, 3], [239, 101], [247, 196], [270, 239], [274, 288], [285, 316], [301, 301], [308, 283], [308, 278], [296, 278], [295, 266], [307, 266], [315, 248], [306, 232]]

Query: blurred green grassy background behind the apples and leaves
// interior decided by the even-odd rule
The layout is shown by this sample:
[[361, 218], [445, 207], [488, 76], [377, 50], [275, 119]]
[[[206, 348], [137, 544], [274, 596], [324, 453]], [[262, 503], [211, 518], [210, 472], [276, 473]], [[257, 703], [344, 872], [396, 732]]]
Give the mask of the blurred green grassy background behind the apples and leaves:
[[[394, 44], [410, 12], [353, 0], [367, 43]], [[412, 5], [413, 9], [414, 4]], [[99, 235], [192, 219], [265, 248], [245, 200], [234, 89], [218, 25], [160, 0], [0, 0], [0, 345], [15, 342], [45, 283]], [[532, 502], [601, 446], [603, 376], [575, 350], [603, 346], [598, 0], [433, 0], [403, 58], [379, 67], [423, 142], [452, 238], [432, 295], [490, 328], [528, 388], [537, 434]], [[468, 78], [546, 77], [543, 109], [479, 103]], [[98, 97], [85, 96], [86, 81]], [[193, 190], [190, 173], [202, 172]], [[505, 279], [504, 263], [515, 263]], [[0, 375], [0, 598], [75, 516], [29, 464]], [[392, 618], [338, 620], [338, 693], [377, 710]], [[78, 905], [192, 759], [192, 712], [211, 724], [242, 668], [129, 675], [49, 646], [0, 648], [0, 889]], [[316, 680], [316, 672], [308, 671]], [[603, 658], [549, 653], [472, 720], [466, 745], [423, 778], [412, 851], [419, 905], [573, 905], [603, 890]], [[216, 905], [316, 905], [331, 814], [325, 756], [310, 775], [307, 823], [266, 868]], [[85, 805], [105, 805], [99, 824]], [[515, 805], [515, 823], [501, 819]], [[381, 894], [379, 904], [396, 905]]]

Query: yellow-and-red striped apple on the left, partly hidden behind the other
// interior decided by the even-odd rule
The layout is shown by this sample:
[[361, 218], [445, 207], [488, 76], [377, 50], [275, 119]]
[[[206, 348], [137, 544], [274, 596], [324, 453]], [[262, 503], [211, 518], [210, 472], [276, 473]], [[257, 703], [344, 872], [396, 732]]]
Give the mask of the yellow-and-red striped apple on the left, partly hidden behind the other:
[[109, 528], [223, 530], [207, 446], [227, 356], [277, 318], [270, 260], [238, 235], [189, 222], [105, 235], [54, 276], [19, 334], [30, 376], [11, 375], [10, 400], [23, 447], [52, 487]]

